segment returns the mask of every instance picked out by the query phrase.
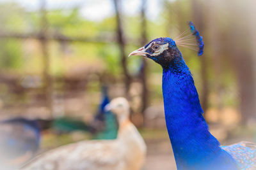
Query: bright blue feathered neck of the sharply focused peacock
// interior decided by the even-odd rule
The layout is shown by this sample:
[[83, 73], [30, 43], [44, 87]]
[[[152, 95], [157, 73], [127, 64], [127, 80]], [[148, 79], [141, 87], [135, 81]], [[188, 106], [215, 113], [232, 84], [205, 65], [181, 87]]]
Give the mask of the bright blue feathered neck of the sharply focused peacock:
[[237, 169], [208, 130], [198, 93], [181, 53], [163, 67], [166, 126], [178, 169]]

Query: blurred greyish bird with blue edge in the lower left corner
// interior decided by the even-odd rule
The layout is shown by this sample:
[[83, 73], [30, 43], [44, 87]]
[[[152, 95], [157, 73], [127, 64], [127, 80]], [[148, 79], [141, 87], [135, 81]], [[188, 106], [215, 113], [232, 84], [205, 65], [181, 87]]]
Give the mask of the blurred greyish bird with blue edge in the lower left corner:
[[15, 169], [35, 156], [40, 145], [40, 122], [11, 118], [0, 122], [0, 169]]

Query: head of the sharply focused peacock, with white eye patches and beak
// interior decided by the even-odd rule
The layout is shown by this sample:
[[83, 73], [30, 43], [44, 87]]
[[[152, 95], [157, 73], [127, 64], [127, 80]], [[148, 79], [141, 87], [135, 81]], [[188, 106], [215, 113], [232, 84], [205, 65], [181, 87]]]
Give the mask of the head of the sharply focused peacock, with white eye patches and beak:
[[147, 45], [131, 52], [129, 56], [131, 55], [147, 57], [162, 67], [170, 66], [170, 63], [175, 59], [182, 59], [179, 48], [177, 48], [175, 41], [171, 38], [154, 39]]

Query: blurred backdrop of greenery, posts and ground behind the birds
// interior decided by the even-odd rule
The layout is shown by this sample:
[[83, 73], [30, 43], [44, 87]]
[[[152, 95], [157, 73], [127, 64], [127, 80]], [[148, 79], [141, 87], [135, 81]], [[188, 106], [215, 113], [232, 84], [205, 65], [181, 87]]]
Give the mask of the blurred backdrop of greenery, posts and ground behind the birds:
[[127, 55], [154, 38], [175, 38], [189, 20], [205, 52], [180, 50], [212, 134], [221, 144], [255, 141], [255, 1], [0, 0], [0, 13], [0, 120], [42, 120], [37, 153], [92, 139], [84, 129], [108, 87], [110, 99], [131, 102], [131, 120], [148, 146], [144, 169], [175, 169], [162, 69]]

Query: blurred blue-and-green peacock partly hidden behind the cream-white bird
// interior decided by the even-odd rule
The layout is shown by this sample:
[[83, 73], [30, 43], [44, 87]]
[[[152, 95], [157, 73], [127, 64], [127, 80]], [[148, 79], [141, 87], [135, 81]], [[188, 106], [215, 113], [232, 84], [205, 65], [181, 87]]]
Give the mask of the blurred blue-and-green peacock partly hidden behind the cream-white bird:
[[60, 117], [52, 120], [52, 129], [58, 133], [90, 132], [93, 139], [115, 139], [118, 129], [115, 115], [104, 111], [104, 107], [109, 103], [108, 87], [106, 85], [102, 86], [101, 93], [102, 99], [99, 109], [92, 122], [86, 124], [77, 118]]

